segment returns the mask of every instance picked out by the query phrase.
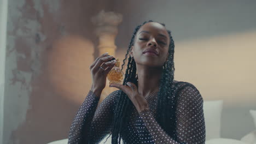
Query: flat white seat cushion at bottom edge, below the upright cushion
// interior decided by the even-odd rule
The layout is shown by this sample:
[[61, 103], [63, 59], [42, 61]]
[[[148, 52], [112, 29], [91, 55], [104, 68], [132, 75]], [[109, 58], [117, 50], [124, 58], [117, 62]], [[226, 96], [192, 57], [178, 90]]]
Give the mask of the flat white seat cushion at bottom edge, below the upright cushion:
[[243, 141], [238, 141], [234, 139], [212, 139], [205, 142], [205, 144], [251, 144]]

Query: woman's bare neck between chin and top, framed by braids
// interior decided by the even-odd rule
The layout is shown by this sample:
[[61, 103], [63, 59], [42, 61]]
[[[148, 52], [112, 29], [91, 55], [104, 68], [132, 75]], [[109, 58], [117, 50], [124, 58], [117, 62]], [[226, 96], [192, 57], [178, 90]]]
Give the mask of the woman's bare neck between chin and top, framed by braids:
[[160, 87], [162, 69], [138, 65], [137, 71], [138, 93], [147, 97], [150, 93], [157, 92]]

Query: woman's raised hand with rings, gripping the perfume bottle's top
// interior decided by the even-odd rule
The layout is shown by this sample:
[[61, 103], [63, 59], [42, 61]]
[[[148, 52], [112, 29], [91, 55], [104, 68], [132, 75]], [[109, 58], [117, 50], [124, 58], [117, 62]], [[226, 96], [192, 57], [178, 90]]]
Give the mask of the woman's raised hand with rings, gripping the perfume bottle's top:
[[106, 86], [107, 74], [117, 62], [115, 60], [109, 61], [112, 58], [113, 56], [109, 56], [108, 53], [104, 53], [100, 57], [97, 57], [90, 66], [92, 75], [91, 91], [95, 93], [97, 97], [100, 97], [103, 88]]

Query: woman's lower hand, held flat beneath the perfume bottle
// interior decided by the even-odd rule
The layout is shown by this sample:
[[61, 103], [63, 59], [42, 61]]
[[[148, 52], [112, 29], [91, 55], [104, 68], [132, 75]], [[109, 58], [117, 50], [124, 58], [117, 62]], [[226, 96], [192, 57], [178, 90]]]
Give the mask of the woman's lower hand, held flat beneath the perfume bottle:
[[127, 86], [112, 83], [109, 87], [119, 88], [121, 91], [126, 93], [138, 112], [149, 109], [147, 100], [138, 93], [137, 86], [131, 82], [127, 82], [126, 85]]

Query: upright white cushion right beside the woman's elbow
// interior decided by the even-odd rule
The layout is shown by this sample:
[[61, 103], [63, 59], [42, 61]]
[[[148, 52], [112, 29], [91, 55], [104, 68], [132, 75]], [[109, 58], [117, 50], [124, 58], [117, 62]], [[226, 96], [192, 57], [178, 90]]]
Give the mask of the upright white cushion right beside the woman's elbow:
[[206, 100], [203, 102], [206, 140], [220, 138], [220, 121], [222, 117], [222, 109], [223, 100]]

